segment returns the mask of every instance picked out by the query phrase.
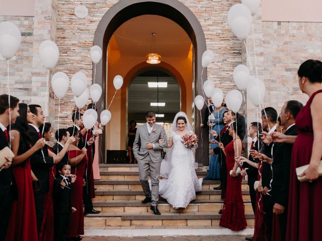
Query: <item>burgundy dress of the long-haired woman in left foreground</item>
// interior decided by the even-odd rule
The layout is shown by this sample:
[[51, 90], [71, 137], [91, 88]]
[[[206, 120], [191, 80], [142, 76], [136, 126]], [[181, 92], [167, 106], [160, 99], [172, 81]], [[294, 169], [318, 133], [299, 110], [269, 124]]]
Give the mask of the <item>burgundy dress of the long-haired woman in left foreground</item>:
[[[19, 146], [19, 155], [26, 151], [21, 149], [21, 145]], [[36, 209], [30, 160], [27, 159], [14, 167], [13, 173], [18, 188], [18, 199], [13, 203], [6, 240], [37, 241]]]

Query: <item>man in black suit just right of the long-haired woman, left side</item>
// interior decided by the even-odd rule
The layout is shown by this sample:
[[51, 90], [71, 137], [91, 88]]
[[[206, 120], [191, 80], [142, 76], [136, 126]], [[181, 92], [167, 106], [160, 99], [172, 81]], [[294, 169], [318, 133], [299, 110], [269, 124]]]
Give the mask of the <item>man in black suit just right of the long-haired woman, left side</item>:
[[[27, 134], [31, 138], [31, 144], [35, 145], [35, 143], [41, 139], [39, 127], [44, 124], [45, 115], [41, 106], [38, 104], [30, 104], [29, 108], [32, 113], [32, 122], [29, 123]], [[39, 149], [30, 157], [31, 170], [40, 181], [40, 189], [34, 190], [38, 234], [43, 219], [44, 196], [49, 190], [49, 168], [59, 161], [59, 157], [52, 158], [48, 156], [48, 149], [46, 146]]]

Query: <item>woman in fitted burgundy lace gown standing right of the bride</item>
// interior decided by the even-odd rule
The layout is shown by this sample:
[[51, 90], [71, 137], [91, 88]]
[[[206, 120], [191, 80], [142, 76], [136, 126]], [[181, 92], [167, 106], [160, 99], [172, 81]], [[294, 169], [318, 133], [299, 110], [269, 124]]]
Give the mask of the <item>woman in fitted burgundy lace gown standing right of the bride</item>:
[[[237, 125], [237, 129], [241, 129], [239, 124]], [[235, 157], [241, 156], [241, 149], [243, 147], [241, 140], [237, 135], [237, 129], [236, 122], [233, 122], [228, 129], [229, 135], [233, 140], [226, 147], [223, 147], [222, 143], [218, 144], [219, 148], [223, 150], [223, 153], [226, 156], [227, 165], [226, 198], [222, 208], [219, 225], [233, 231], [243, 230], [247, 226], [245, 206], [241, 194], [241, 181], [243, 180], [243, 176], [237, 174], [239, 164], [235, 162]]]

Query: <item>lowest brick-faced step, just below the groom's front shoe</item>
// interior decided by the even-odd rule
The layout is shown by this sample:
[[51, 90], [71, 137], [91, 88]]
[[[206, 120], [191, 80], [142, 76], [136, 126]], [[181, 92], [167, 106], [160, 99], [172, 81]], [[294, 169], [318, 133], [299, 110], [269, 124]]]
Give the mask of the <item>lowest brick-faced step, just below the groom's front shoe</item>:
[[[248, 225], [254, 226], [254, 214], [246, 212]], [[91, 214], [94, 215], [94, 214]], [[97, 214], [95, 214], [97, 215]], [[85, 226], [212, 226], [219, 228], [220, 214], [218, 212], [162, 212], [153, 213], [104, 213], [98, 216], [85, 217]]]

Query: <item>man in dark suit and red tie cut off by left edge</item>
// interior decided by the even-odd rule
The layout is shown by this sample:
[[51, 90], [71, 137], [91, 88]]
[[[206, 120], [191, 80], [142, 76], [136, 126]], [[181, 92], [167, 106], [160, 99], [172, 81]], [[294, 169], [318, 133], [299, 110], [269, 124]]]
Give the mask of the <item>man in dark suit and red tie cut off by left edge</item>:
[[[0, 95], [0, 150], [10, 146], [10, 135], [7, 127], [15, 124], [19, 116], [19, 99], [7, 94]], [[10, 119], [11, 118], [11, 119]], [[11, 205], [16, 191], [12, 173], [12, 158], [6, 156], [6, 163], [0, 166], [0, 240], [6, 239], [7, 228], [11, 215]]]

